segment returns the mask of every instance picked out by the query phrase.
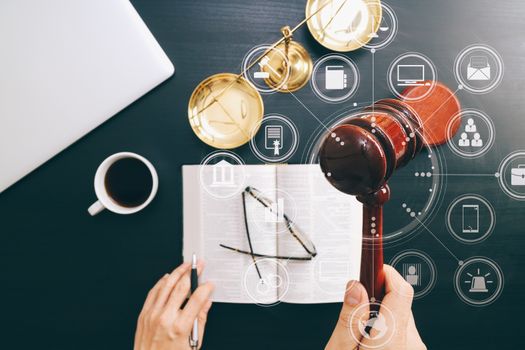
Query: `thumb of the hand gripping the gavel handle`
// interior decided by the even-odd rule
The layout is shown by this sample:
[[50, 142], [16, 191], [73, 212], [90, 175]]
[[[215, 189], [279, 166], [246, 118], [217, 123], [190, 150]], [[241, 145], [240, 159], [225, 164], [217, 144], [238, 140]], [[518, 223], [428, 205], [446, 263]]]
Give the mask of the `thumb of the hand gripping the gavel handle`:
[[368, 312], [365, 288], [358, 281], [348, 282], [343, 308], [325, 350], [356, 348], [361, 341], [358, 321]]

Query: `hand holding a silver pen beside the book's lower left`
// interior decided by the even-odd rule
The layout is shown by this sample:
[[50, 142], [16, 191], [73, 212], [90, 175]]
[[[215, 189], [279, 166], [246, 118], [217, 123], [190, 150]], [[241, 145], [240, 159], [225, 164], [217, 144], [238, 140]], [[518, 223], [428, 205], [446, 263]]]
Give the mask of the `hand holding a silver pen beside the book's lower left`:
[[[191, 295], [190, 264], [184, 263], [166, 274], [150, 290], [137, 322], [135, 350], [189, 350], [193, 321], [199, 320], [199, 348], [202, 346], [206, 317], [211, 307], [213, 284], [204, 283]], [[199, 262], [197, 271], [203, 269]]]

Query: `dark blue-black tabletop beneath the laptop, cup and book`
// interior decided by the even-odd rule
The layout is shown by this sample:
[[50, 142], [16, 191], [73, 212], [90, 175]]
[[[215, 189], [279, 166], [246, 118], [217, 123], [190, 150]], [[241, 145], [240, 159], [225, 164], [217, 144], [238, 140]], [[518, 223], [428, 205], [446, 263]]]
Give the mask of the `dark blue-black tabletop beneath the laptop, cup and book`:
[[[3, 349], [132, 347], [147, 291], [181, 262], [181, 166], [199, 163], [212, 151], [193, 135], [187, 121], [193, 88], [211, 74], [237, 72], [250, 48], [276, 40], [281, 26], [303, 19], [305, 7], [304, 0], [132, 2], [175, 63], [175, 76], [0, 195]], [[450, 173], [495, 172], [505, 155], [525, 148], [525, 3], [391, 0], [389, 4], [400, 29], [395, 42], [376, 54], [376, 98], [391, 96], [383, 73], [403, 52], [430, 57], [440, 80], [451, 86], [457, 85], [454, 58], [465, 46], [486, 43], [502, 55], [505, 76], [499, 88], [487, 95], [459, 92], [463, 106], [492, 117], [494, 147], [476, 160], [459, 158], [443, 148]], [[295, 39], [314, 59], [328, 53], [306, 28]], [[348, 56], [361, 71], [354, 100], [370, 101], [370, 53], [360, 50]], [[322, 103], [309, 86], [296, 95], [323, 118], [344, 107]], [[267, 112], [287, 115], [299, 126], [304, 140], [291, 163], [301, 162], [306, 140], [318, 123], [289, 95], [274, 94], [264, 100]], [[138, 152], [155, 164], [160, 176], [157, 198], [136, 215], [105, 212], [89, 217], [86, 209], [95, 200], [92, 181], [98, 164], [124, 150]], [[247, 163], [258, 163], [249, 147], [236, 152]], [[404, 249], [420, 249], [438, 267], [434, 290], [413, 306], [422, 338], [430, 349], [523, 348], [525, 204], [504, 195], [490, 177], [449, 177], [444, 190], [442, 205], [429, 227], [457, 256], [481, 255], [497, 261], [505, 288], [490, 306], [468, 306], [454, 292], [457, 262], [431, 235], [421, 232], [387, 249], [387, 259]], [[457, 242], [445, 227], [446, 207], [463, 193], [482, 194], [496, 208], [495, 232], [478, 245]], [[210, 313], [205, 347], [320, 349], [339, 309], [339, 304], [271, 308], [217, 304]]]

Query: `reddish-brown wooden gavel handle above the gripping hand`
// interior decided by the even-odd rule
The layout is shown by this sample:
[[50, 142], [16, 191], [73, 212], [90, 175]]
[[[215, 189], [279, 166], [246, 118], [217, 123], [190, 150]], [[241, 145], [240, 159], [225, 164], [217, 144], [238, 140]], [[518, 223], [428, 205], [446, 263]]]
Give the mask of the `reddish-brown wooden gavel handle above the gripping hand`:
[[360, 280], [365, 286], [370, 300], [375, 302], [383, 300], [385, 296], [385, 273], [383, 271], [382, 204], [363, 204], [363, 246]]

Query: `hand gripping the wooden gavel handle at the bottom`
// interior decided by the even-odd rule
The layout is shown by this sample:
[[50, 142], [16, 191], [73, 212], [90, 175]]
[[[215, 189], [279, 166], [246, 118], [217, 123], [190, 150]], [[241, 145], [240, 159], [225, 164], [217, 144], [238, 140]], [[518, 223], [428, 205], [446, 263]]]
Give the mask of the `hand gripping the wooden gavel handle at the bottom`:
[[362, 335], [363, 325], [360, 322], [368, 319], [370, 301], [363, 285], [358, 281], [350, 281], [346, 288], [343, 309], [325, 350], [426, 349], [412, 314], [412, 286], [393, 267], [385, 265], [384, 270], [386, 294], [379, 314], [383, 316], [387, 329], [385, 334], [379, 337], [378, 331], [373, 327], [369, 337]]

